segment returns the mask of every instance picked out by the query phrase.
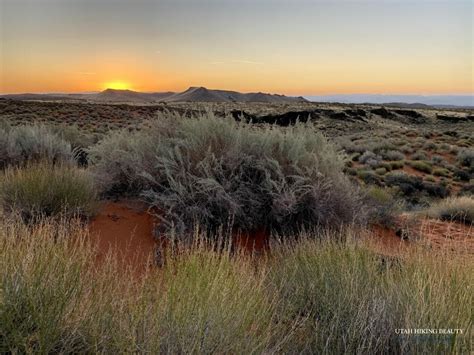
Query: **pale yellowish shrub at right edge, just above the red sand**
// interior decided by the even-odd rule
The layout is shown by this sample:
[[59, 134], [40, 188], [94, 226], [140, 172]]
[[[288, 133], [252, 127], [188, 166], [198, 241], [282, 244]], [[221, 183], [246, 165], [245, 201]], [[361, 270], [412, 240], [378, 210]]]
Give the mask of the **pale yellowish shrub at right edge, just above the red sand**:
[[451, 197], [431, 206], [427, 212], [431, 218], [474, 223], [474, 198]]

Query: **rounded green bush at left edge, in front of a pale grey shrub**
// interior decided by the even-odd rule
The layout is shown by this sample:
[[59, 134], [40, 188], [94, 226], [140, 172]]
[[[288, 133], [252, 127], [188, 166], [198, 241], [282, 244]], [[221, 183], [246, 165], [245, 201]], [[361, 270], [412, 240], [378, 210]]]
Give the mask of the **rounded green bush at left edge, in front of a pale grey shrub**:
[[25, 220], [93, 214], [96, 194], [90, 175], [73, 166], [47, 163], [7, 168], [0, 175], [0, 204]]

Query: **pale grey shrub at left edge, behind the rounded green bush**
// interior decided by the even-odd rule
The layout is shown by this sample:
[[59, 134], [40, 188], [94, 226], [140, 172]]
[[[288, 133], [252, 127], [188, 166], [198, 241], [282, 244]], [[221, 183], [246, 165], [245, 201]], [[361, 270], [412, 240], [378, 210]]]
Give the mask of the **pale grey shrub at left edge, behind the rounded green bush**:
[[28, 162], [71, 162], [71, 145], [46, 126], [17, 126], [0, 129], [0, 168]]

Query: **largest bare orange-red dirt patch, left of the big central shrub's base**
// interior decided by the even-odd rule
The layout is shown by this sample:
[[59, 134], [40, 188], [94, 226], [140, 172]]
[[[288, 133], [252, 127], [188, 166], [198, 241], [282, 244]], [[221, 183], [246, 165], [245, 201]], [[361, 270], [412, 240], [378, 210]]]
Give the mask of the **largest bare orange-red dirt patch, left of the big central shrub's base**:
[[106, 202], [90, 222], [91, 242], [97, 249], [97, 261], [117, 254], [121, 266], [146, 270], [154, 257], [156, 239], [154, 218], [143, 205], [132, 202]]

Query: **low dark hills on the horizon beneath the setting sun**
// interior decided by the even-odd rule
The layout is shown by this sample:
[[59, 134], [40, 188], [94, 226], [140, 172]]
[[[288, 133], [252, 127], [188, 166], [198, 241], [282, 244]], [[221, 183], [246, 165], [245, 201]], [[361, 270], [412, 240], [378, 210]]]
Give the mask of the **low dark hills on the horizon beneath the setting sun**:
[[14, 94], [0, 95], [2, 98], [17, 100], [87, 100], [94, 102], [307, 102], [303, 97], [290, 97], [265, 93], [240, 93], [237, 91], [211, 90], [204, 87], [190, 87], [175, 92], [145, 93], [132, 90], [106, 89], [99, 93], [88, 94]]

